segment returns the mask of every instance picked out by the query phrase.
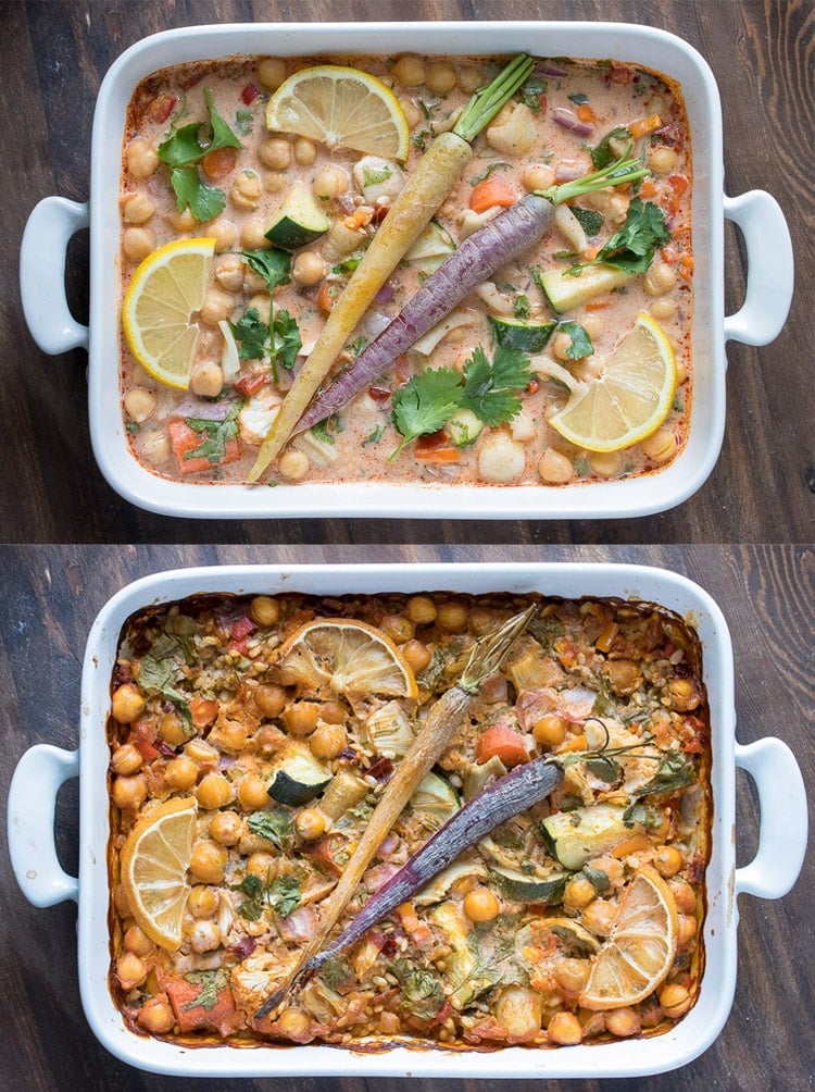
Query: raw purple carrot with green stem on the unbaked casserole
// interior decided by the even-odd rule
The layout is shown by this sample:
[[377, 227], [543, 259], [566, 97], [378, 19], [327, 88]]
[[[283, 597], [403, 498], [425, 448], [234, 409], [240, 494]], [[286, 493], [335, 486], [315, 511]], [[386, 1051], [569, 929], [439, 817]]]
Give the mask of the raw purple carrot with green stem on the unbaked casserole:
[[541, 239], [552, 226], [555, 205], [592, 190], [635, 181], [647, 174], [638, 159], [623, 159], [564, 186], [529, 193], [490, 221], [465, 239], [428, 277], [382, 333], [305, 411], [295, 431], [311, 428], [350, 402], [474, 288]]

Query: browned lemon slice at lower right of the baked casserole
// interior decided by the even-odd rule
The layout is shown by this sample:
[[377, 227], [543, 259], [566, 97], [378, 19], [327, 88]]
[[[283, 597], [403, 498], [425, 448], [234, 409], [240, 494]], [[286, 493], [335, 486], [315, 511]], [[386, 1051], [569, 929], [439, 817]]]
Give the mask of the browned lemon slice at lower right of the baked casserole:
[[652, 994], [673, 964], [678, 929], [671, 889], [655, 869], [644, 868], [623, 892], [579, 1004], [586, 1009], [618, 1009]]

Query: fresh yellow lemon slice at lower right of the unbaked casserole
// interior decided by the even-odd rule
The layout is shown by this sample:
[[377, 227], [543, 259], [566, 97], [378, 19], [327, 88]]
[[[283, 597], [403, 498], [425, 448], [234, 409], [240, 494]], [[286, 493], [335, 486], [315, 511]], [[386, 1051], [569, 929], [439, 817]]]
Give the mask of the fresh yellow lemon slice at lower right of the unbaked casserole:
[[549, 424], [587, 451], [620, 451], [651, 436], [676, 393], [676, 358], [664, 330], [645, 312], [606, 360], [602, 373], [575, 388]]

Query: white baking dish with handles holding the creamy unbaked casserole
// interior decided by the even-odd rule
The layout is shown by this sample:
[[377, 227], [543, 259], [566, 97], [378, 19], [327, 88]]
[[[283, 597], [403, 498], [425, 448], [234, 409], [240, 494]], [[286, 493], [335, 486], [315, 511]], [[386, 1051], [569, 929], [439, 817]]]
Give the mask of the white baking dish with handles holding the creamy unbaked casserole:
[[[693, 229], [696, 305], [695, 367], [688, 441], [664, 471], [631, 480], [546, 486], [439, 486], [357, 483], [238, 485], [164, 480], [131, 455], [115, 377], [119, 359], [119, 149], [128, 102], [141, 80], [165, 66], [201, 58], [272, 54], [418, 52], [616, 58], [678, 81], [685, 97], [694, 157]], [[649, 26], [618, 23], [353, 23], [248, 24], [167, 31], [128, 49], [111, 66], [96, 104], [91, 202], [46, 198], [31, 215], [21, 253], [23, 308], [46, 353], [86, 347], [94, 452], [121, 496], [171, 515], [218, 518], [388, 517], [529, 519], [624, 518], [663, 511], [695, 492], [719, 455], [724, 432], [724, 343], [765, 345], [781, 331], [792, 297], [792, 247], [775, 200], [762, 191], [723, 194], [722, 122], [714, 75], [681, 38]], [[745, 236], [750, 275], [743, 307], [724, 317], [724, 219]], [[91, 225], [91, 321], [80, 325], [65, 302], [64, 253], [70, 237]], [[41, 257], [51, 260], [44, 266]], [[760, 254], [760, 260], [759, 260]], [[440, 507], [443, 506], [443, 507]]]

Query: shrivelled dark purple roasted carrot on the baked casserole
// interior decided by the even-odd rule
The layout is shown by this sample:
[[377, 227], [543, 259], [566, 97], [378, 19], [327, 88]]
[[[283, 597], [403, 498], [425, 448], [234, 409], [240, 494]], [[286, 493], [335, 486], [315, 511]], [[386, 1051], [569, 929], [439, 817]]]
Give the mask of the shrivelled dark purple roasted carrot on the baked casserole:
[[[386, 917], [391, 911], [420, 891], [434, 876], [460, 857], [465, 850], [480, 842], [502, 822], [539, 804], [562, 781], [562, 765], [551, 757], [546, 757], [516, 767], [504, 778], [487, 785], [443, 827], [440, 827], [421, 850], [368, 900], [333, 943], [303, 964], [298, 978], [302, 981], [304, 975], [313, 974], [328, 960], [355, 943], [372, 925]], [[283, 1000], [284, 996], [285, 990], [277, 990], [264, 1002], [256, 1016], [265, 1016]]]

